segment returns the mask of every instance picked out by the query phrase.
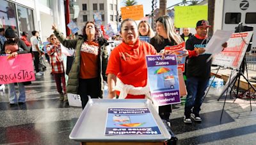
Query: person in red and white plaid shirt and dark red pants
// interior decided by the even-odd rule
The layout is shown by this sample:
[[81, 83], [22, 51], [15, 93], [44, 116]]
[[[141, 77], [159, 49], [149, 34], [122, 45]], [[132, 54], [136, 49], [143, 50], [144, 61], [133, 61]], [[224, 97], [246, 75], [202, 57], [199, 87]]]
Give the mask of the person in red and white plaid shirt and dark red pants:
[[[67, 99], [67, 93], [66, 93], [66, 81], [65, 81], [63, 59], [61, 57], [60, 42], [58, 42], [58, 39], [54, 34], [51, 34], [49, 39], [50, 39], [50, 44], [46, 46], [46, 51], [50, 59], [50, 64], [52, 68], [51, 72], [54, 75], [57, 90], [60, 93], [60, 100], [63, 102], [67, 102], [68, 99]], [[62, 92], [61, 82], [62, 82], [64, 93]]]

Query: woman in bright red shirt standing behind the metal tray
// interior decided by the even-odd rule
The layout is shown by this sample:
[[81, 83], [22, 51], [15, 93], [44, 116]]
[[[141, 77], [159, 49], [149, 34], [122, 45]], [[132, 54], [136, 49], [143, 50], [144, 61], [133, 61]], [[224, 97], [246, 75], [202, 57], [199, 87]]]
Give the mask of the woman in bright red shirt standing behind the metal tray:
[[157, 52], [152, 45], [138, 39], [138, 27], [130, 18], [122, 22], [120, 34], [124, 41], [112, 50], [106, 71], [108, 98], [150, 98], [145, 56]]

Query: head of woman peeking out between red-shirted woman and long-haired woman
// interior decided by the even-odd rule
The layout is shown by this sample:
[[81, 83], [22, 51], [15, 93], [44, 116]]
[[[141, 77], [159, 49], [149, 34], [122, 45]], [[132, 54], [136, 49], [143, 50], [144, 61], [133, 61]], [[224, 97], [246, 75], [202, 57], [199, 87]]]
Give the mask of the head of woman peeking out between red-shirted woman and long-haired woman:
[[138, 27], [140, 36], [148, 36], [149, 38], [154, 37], [154, 31], [152, 30], [147, 21], [141, 20]]

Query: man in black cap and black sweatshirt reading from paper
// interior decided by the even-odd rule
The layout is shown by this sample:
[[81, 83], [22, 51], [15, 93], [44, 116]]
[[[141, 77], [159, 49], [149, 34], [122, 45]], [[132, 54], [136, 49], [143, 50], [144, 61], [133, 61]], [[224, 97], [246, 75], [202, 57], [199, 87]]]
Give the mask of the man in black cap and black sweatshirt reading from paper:
[[[189, 56], [186, 68], [188, 95], [185, 104], [184, 123], [192, 123], [191, 118], [198, 122], [202, 121], [199, 111], [211, 74], [211, 60], [207, 61], [211, 54], [203, 54], [205, 46], [210, 40], [207, 36], [209, 27], [211, 25], [207, 20], [199, 20], [196, 23], [195, 36], [186, 41], [186, 50], [188, 50]], [[227, 47], [227, 43], [222, 46]]]

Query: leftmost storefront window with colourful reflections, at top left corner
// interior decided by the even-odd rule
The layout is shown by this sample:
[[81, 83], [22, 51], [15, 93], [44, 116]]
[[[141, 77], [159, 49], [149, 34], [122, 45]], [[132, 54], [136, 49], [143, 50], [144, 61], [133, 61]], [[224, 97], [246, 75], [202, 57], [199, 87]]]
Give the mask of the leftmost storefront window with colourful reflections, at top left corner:
[[0, 28], [12, 27], [17, 32], [15, 4], [0, 0]]

